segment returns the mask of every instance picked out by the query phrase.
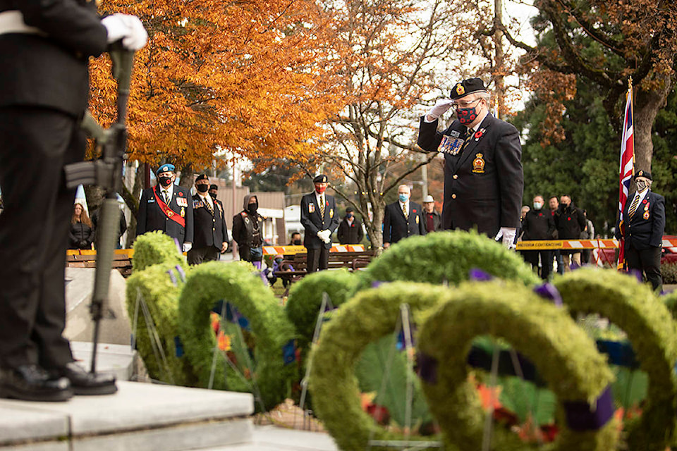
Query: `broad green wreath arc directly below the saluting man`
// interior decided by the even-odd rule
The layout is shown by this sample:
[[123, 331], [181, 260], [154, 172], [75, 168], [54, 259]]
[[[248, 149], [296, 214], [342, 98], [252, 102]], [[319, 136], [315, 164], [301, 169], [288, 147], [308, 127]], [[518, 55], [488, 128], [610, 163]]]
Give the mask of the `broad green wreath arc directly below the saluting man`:
[[518, 253], [475, 230], [455, 230], [397, 242], [360, 271], [359, 288], [394, 280], [455, 285], [468, 280], [472, 268], [502, 279], [521, 280], [525, 285], [540, 283]]

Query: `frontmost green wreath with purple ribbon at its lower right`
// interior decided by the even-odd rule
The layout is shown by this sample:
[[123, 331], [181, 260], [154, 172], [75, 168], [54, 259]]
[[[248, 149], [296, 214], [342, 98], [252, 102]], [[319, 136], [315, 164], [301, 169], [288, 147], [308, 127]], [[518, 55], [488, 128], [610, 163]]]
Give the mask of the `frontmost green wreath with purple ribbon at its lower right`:
[[[567, 421], [554, 442], [556, 450], [614, 450], [618, 440], [608, 385], [613, 380], [604, 357], [583, 329], [576, 326], [566, 309], [542, 301], [518, 283], [492, 281], [464, 283], [429, 312], [418, 337], [423, 391], [430, 409], [451, 443], [463, 450], [482, 445], [484, 412], [468, 381], [466, 355], [472, 340], [492, 335], [511, 342], [537, 366], [563, 406], [575, 403], [598, 407], [606, 417], [597, 430], [573, 431]], [[585, 426], [587, 427], [587, 426]], [[599, 427], [597, 425], [596, 427]], [[594, 429], [591, 427], [591, 429]], [[494, 450], [506, 449], [496, 445]]]

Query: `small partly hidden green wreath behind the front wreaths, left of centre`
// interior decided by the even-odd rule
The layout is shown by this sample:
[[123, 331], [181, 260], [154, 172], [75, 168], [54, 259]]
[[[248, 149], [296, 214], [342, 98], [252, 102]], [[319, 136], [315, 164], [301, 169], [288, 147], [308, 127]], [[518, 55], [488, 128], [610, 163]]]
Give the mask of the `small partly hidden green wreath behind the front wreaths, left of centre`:
[[308, 274], [291, 286], [285, 310], [298, 332], [299, 347], [305, 349], [312, 342], [322, 293], [326, 292], [331, 304], [338, 307], [354, 294], [357, 284], [357, 276], [347, 269], [339, 269]]

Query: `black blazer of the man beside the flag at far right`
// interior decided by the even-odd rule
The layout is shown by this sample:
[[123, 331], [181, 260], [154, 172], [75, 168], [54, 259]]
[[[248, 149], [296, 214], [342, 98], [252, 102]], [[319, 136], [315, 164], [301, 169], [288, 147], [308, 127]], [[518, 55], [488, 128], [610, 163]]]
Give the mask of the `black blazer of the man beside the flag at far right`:
[[628, 209], [634, 198], [634, 193], [628, 196], [623, 206], [623, 226], [619, 227], [619, 224], [616, 224], [616, 238], [621, 239], [622, 228], [622, 237], [626, 240], [626, 247], [630, 246], [630, 242], [633, 243], [635, 249], [640, 251], [649, 247], [661, 247], [665, 230], [664, 197], [655, 192], [647, 192], [633, 217], [628, 219]]

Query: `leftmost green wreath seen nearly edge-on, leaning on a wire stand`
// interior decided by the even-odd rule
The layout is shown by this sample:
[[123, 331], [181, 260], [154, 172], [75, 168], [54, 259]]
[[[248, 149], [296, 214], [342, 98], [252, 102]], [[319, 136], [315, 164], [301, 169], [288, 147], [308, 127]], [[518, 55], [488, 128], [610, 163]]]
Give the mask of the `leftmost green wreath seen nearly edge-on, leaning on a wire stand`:
[[[184, 264], [185, 265], [185, 264]], [[183, 266], [184, 271], [187, 268]], [[171, 280], [168, 271], [173, 271], [176, 285]], [[175, 337], [178, 337], [178, 296], [183, 288], [181, 277], [176, 271], [176, 264], [164, 263], [149, 266], [144, 271], [134, 271], [127, 279], [127, 311], [130, 321], [133, 321], [138, 296], [140, 295], [148, 306], [155, 328], [161, 342], [162, 350], [166, 355], [167, 366], [158, 362], [148, 336], [146, 321], [141, 309], [138, 311], [136, 325], [136, 345], [146, 364], [149, 375], [166, 383], [177, 385], [193, 385], [195, 377], [193, 369], [185, 357], [177, 357]], [[134, 324], [132, 324], [132, 328]]]

